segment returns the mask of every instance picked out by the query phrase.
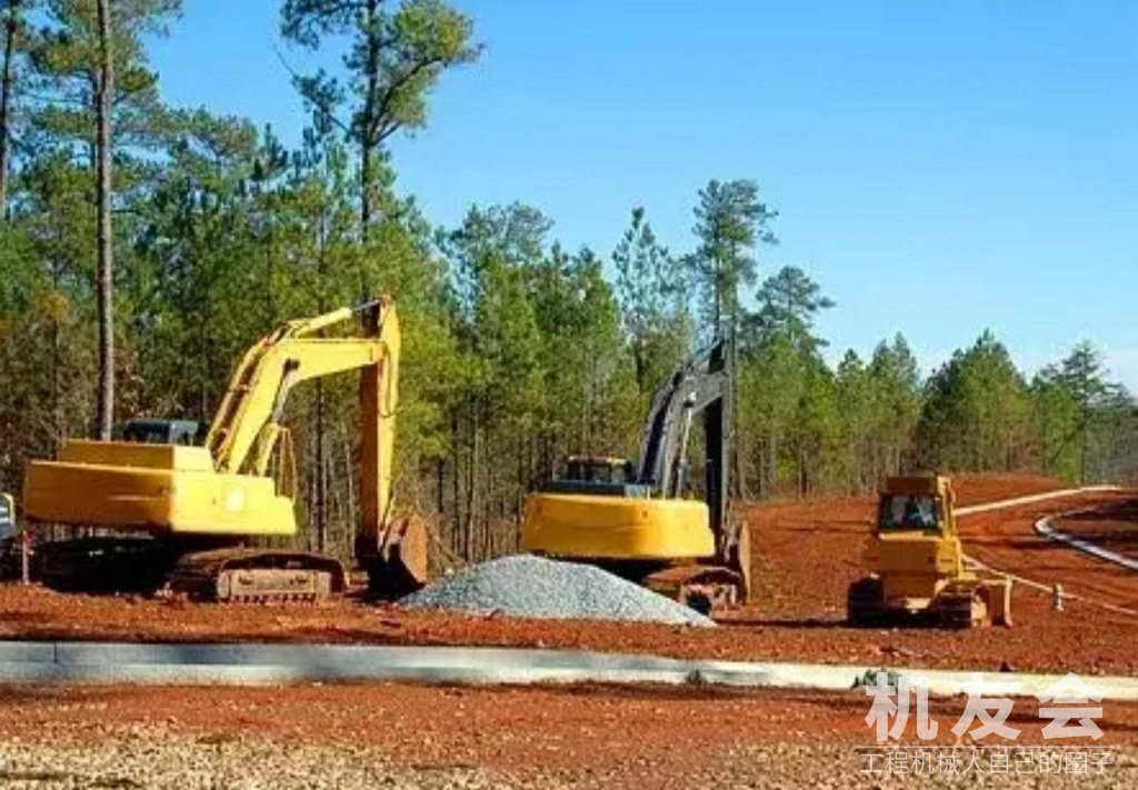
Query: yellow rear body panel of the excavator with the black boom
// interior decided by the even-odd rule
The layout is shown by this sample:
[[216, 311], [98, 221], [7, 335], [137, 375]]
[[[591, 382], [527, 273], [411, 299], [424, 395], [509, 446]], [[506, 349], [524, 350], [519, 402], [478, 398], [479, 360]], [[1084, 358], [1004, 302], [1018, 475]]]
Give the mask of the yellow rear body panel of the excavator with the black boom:
[[603, 560], [695, 560], [716, 553], [704, 502], [561, 493], [529, 497], [521, 549]]

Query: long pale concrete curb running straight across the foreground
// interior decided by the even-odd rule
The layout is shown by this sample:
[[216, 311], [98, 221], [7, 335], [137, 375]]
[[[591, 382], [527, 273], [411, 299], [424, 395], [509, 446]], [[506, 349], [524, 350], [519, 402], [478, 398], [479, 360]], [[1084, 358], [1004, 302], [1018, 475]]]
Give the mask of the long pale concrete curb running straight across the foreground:
[[[277, 685], [621, 683], [846, 691], [867, 670], [889, 669], [930, 693], [960, 693], [970, 672], [824, 664], [690, 661], [574, 650], [364, 645], [0, 643], [0, 683]], [[1025, 697], [1063, 675], [978, 673], [986, 693]], [[1138, 678], [1083, 682], [1112, 700], [1138, 701]]]

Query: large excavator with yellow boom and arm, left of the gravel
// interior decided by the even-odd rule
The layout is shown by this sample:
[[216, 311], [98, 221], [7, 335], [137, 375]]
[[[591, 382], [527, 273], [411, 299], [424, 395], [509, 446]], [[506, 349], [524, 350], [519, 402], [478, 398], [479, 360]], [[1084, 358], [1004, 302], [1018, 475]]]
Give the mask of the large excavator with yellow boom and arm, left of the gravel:
[[[348, 323], [354, 332], [325, 336]], [[358, 371], [356, 560], [378, 595], [419, 589], [426, 528], [393, 512], [399, 345], [386, 296], [289, 321], [245, 354], [204, 442], [192, 422], [134, 420], [114, 441], [73, 441], [56, 460], [32, 461], [25, 519], [101, 533], [39, 542], [36, 576], [73, 590], [162, 590], [225, 602], [321, 601], [344, 592], [340, 561], [249, 543], [297, 533], [295, 459], [282, 425], [289, 390]]]

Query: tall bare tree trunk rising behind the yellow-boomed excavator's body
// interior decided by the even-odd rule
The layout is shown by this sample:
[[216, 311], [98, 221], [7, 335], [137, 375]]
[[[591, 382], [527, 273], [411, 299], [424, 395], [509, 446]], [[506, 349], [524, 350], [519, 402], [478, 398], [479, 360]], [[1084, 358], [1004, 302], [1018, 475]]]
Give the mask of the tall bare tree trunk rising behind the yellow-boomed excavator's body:
[[98, 289], [99, 289], [99, 413], [100, 439], [109, 439], [115, 419], [114, 260], [110, 227], [112, 151], [110, 114], [114, 106], [115, 64], [110, 46], [110, 0], [98, 0], [99, 89], [96, 116], [98, 158]]

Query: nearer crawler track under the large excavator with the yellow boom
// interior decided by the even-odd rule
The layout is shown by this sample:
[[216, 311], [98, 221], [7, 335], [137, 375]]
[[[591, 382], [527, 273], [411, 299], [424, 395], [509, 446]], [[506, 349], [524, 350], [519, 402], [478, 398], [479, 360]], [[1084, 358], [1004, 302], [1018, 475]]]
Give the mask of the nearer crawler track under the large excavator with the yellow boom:
[[275, 549], [215, 549], [184, 554], [166, 590], [220, 603], [321, 603], [347, 586], [344, 566], [328, 557]]

